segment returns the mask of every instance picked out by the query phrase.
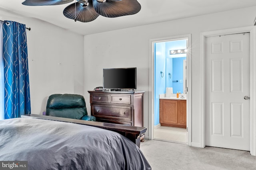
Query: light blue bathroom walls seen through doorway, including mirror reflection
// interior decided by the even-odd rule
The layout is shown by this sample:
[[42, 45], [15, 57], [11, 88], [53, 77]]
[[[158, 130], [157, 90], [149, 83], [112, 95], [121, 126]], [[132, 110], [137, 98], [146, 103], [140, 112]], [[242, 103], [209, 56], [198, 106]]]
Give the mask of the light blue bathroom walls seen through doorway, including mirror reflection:
[[[173, 87], [172, 80], [183, 80], [183, 60], [186, 59], [186, 54], [170, 55], [170, 50], [186, 49], [186, 40], [168, 41], [154, 43], [154, 125], [158, 125], [159, 121], [159, 94], [166, 93], [166, 87]], [[173, 58], [172, 57], [182, 57]], [[176, 66], [177, 64], [180, 64]], [[170, 68], [171, 67], [171, 68]], [[177, 71], [175, 70], [177, 67]], [[181, 71], [180, 71], [181, 69]], [[161, 77], [161, 73], [164, 75]], [[172, 78], [168, 78], [168, 73], [171, 72]], [[174, 76], [175, 75], [175, 76]], [[180, 78], [180, 75], [182, 78]], [[176, 78], [176, 79], [175, 79]], [[178, 85], [178, 86], [177, 86]], [[176, 87], [177, 86], [177, 87]], [[176, 83], [174, 90], [181, 91], [183, 83]], [[176, 93], [175, 91], [173, 91]]]

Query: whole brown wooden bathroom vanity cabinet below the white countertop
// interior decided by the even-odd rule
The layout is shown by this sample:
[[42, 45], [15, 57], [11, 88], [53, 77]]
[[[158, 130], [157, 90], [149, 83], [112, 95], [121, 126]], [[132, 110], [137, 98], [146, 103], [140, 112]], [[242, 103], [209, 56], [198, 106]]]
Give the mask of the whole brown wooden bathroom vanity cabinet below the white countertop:
[[161, 126], [186, 128], [186, 100], [160, 99], [160, 124]]

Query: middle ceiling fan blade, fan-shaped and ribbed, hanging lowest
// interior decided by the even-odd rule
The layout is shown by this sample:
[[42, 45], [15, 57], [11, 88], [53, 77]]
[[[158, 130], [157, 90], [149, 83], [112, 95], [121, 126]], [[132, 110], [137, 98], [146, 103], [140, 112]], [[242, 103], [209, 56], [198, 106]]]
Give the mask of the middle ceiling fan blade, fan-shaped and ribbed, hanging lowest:
[[94, 10], [92, 0], [88, 0], [88, 2], [89, 5], [85, 8], [79, 2], [67, 6], [63, 11], [63, 15], [66, 18], [72, 20], [76, 19], [77, 21], [81, 22], [90, 22], [95, 20], [99, 14]]

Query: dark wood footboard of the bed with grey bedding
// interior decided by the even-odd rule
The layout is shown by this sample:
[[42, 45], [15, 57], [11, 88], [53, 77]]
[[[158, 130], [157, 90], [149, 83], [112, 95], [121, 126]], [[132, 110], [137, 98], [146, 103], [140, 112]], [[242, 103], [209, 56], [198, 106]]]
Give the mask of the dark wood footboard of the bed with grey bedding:
[[127, 137], [128, 139], [130, 139], [138, 147], [140, 147], [140, 136], [144, 134], [147, 130], [146, 127], [136, 127], [136, 126], [114, 124], [114, 123], [104, 123], [104, 122], [98, 122], [98, 121], [86, 121], [86, 120], [80, 120], [80, 119], [69, 119], [64, 117], [54, 117], [54, 116], [47, 116], [47, 115], [28, 114], [28, 115], [21, 115], [21, 117], [30, 117], [30, 118], [36, 118], [36, 119], [47, 119], [47, 120], [54, 120], [54, 121], [77, 123], [80, 125], [94, 126], [102, 129], [107, 129], [110, 131], [115, 131]]

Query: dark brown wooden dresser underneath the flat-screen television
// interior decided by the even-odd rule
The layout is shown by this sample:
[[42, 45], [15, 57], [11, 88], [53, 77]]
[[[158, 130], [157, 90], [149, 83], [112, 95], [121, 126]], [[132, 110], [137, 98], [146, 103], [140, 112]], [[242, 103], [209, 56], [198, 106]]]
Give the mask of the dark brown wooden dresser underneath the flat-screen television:
[[143, 127], [144, 91], [90, 93], [91, 115], [96, 121]]

